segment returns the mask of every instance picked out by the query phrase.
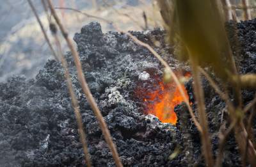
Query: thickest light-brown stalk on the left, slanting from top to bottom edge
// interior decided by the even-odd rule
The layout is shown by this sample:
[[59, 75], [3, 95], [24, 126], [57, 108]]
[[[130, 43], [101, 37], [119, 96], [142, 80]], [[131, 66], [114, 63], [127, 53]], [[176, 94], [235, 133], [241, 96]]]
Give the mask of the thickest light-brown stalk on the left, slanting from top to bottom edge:
[[68, 37], [68, 33], [67, 33], [66, 29], [61, 24], [61, 21], [57, 15], [56, 11], [54, 10], [51, 0], [48, 0], [48, 3], [49, 3], [49, 8], [51, 10], [52, 16], [56, 20], [56, 23], [58, 24], [58, 26], [61, 30], [61, 33], [62, 33], [63, 37], [65, 38], [70, 51], [72, 52], [72, 55], [74, 57], [74, 62], [77, 67], [77, 76], [78, 76], [79, 82], [81, 84], [82, 90], [84, 91], [84, 94], [86, 95], [86, 99], [88, 100], [95, 116], [97, 117], [97, 120], [99, 121], [100, 128], [102, 130], [102, 133], [104, 135], [106, 143], [108, 144], [108, 147], [113, 155], [113, 159], [115, 160], [116, 166], [118, 166], [118, 167], [123, 166], [120, 161], [120, 157], [118, 156], [116, 147], [111, 138], [111, 134], [108, 130], [106, 122], [104, 121], [104, 118], [103, 118], [102, 114], [100, 113], [99, 107], [97, 106], [95, 100], [93, 99], [90, 88], [88, 87], [88, 84], [86, 83], [86, 80], [84, 78], [81, 62], [79, 60], [79, 55], [78, 55], [76, 49], [74, 48], [74, 45], [72, 44], [70, 38]]

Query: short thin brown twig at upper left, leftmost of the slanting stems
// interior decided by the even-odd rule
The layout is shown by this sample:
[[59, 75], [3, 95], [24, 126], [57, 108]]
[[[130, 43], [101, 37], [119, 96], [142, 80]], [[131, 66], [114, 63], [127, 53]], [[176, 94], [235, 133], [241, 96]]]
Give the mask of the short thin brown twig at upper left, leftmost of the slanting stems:
[[55, 60], [60, 61], [59, 58], [58, 58], [58, 56], [56, 55], [56, 53], [55, 53], [53, 47], [52, 47], [52, 44], [51, 44], [51, 42], [50, 42], [50, 40], [49, 40], [49, 38], [48, 38], [46, 32], [45, 32], [44, 26], [43, 26], [43, 24], [42, 24], [40, 18], [38, 17], [38, 14], [36, 13], [35, 6], [34, 6], [33, 3], [31, 2], [31, 0], [27, 0], [27, 1], [28, 1], [28, 4], [29, 4], [31, 10], [33, 11], [33, 13], [34, 13], [34, 15], [35, 15], [35, 17], [36, 17], [36, 20], [37, 20], [37, 22], [38, 22], [38, 24], [39, 24], [39, 26], [40, 26], [40, 28], [41, 28], [42, 33], [44, 34], [44, 38], [45, 38], [47, 44], [49, 45], [49, 48], [51, 49], [52, 55], [54, 56]]

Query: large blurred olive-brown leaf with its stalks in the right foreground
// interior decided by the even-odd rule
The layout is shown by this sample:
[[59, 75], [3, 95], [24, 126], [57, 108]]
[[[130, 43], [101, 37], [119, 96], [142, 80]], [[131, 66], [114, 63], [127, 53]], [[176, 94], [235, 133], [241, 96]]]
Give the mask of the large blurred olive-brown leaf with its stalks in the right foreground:
[[[220, 79], [220, 84], [224, 88], [230, 86], [233, 89], [234, 104], [228, 106], [230, 121], [237, 121], [234, 130], [241, 154], [248, 154], [250, 164], [255, 165], [255, 148], [251, 141], [247, 141], [248, 132], [243, 123], [240, 88], [241, 84], [244, 85], [243, 81], [246, 81], [246, 86], [252, 86], [255, 81], [250, 80], [252, 76], [250, 79], [238, 77], [225, 29], [225, 17], [220, 10], [222, 8], [220, 1], [159, 0], [157, 2], [168, 30], [168, 42], [175, 45], [175, 54], [179, 59], [189, 61], [191, 65], [198, 116], [202, 126], [201, 141], [205, 164], [214, 165], [205, 113], [204, 91], [200, 83], [198, 67], [211, 67], [215, 76]], [[234, 81], [235, 79], [237, 81]]]

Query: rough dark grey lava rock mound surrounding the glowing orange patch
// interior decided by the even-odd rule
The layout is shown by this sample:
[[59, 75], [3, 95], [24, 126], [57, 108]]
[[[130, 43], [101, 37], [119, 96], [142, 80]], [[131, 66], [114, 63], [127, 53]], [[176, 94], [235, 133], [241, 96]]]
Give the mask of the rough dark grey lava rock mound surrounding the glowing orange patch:
[[[241, 72], [256, 72], [256, 20], [241, 22], [237, 28], [242, 46]], [[132, 34], [150, 45], [153, 45], [152, 38], [159, 40], [165, 52], [172, 52], [172, 48], [164, 45], [164, 32], [160, 29]], [[154, 80], [145, 74], [161, 75], [163, 71], [147, 49], [134, 44], [126, 35], [116, 32], [103, 34], [96, 22], [84, 26], [74, 40], [86, 80], [108, 123], [124, 166], [204, 164], [198, 131], [183, 104], [175, 108], [179, 117], [177, 126], [143, 115], [143, 105], [134, 95], [134, 90], [138, 83], [144, 82], [142, 86], [148, 86]], [[156, 51], [163, 52], [161, 47], [155, 47]], [[184, 66], [172, 57], [164, 57], [173, 67]], [[88, 134], [93, 166], [115, 166], [77, 81], [70, 52], [66, 58]], [[184, 69], [187, 68], [184, 66]], [[212, 149], [217, 153], [220, 115], [225, 104], [206, 81], [203, 83], [214, 144]], [[193, 102], [191, 81], [186, 88]], [[253, 99], [253, 93], [244, 91], [245, 104]], [[13, 77], [1, 83], [0, 116], [0, 166], [84, 166], [76, 119], [60, 63], [49, 60], [35, 79]], [[175, 148], [180, 152], [171, 160], [169, 156]], [[228, 139], [224, 159], [223, 164], [227, 166], [240, 164], [233, 138]]]

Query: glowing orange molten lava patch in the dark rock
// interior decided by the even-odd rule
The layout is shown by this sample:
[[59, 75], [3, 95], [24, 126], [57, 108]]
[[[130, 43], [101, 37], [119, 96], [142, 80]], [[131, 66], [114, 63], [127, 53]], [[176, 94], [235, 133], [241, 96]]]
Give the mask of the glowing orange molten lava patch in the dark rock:
[[[180, 76], [180, 75], [179, 75]], [[191, 75], [186, 73], [184, 76], [188, 79]], [[145, 103], [144, 113], [157, 116], [163, 123], [177, 123], [177, 115], [174, 112], [174, 107], [184, 102], [184, 99], [179, 91], [179, 88], [174, 82], [165, 84], [161, 79], [156, 79], [157, 82], [153, 85], [154, 89], [140, 91], [140, 96], [143, 97]], [[188, 93], [184, 84], [182, 90], [186, 93], [186, 99], [189, 99]]]

